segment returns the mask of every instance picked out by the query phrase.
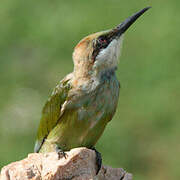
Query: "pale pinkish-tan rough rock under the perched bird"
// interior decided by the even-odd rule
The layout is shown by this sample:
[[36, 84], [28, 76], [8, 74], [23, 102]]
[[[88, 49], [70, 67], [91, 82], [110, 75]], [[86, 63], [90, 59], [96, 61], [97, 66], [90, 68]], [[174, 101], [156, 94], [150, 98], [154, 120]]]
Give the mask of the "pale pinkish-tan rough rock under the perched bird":
[[96, 175], [96, 154], [87, 148], [75, 148], [67, 158], [55, 152], [29, 154], [1, 170], [0, 180], [132, 180], [122, 168], [103, 166]]

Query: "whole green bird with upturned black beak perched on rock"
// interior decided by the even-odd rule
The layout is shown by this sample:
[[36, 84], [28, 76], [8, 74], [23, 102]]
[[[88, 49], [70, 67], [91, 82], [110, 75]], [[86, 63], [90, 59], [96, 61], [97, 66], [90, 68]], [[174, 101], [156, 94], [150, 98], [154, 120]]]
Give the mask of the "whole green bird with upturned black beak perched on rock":
[[42, 110], [35, 152], [87, 147], [98, 156], [95, 144], [117, 109], [116, 70], [124, 33], [149, 8], [113, 29], [86, 36], [75, 46], [73, 72], [57, 84]]

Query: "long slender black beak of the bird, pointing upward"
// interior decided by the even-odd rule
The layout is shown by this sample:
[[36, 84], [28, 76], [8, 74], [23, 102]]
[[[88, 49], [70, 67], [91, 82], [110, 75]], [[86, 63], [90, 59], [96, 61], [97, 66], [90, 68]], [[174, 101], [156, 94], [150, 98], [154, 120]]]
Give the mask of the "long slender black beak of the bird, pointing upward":
[[141, 11], [135, 13], [134, 15], [128, 17], [124, 22], [122, 22], [113, 29], [113, 35], [116, 37], [120, 37], [142, 14], [144, 14], [150, 8], [151, 7], [144, 8]]

